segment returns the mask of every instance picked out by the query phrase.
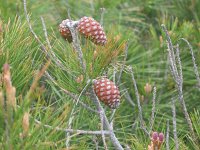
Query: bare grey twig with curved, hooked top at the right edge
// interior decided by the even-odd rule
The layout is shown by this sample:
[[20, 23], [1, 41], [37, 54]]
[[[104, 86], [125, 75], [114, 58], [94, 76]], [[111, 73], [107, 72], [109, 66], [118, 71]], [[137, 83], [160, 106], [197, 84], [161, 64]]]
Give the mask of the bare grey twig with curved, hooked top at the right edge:
[[200, 77], [199, 77], [198, 67], [197, 67], [197, 64], [196, 64], [193, 48], [192, 48], [191, 44], [186, 39], [181, 38], [180, 40], [183, 40], [184, 42], [186, 42], [188, 47], [189, 47], [189, 49], [190, 49], [190, 54], [192, 56], [192, 62], [193, 62], [193, 67], [194, 67], [194, 73], [196, 75], [197, 82], [198, 82], [198, 87], [200, 89]]

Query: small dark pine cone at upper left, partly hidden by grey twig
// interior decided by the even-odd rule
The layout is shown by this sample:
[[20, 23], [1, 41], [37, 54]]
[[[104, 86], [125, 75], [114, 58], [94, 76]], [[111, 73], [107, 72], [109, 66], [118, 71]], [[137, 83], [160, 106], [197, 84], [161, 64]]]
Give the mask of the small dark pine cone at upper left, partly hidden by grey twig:
[[71, 35], [69, 28], [66, 26], [66, 24], [68, 22], [72, 22], [72, 20], [69, 20], [69, 19], [63, 20], [62, 23], [59, 25], [59, 31], [60, 31], [61, 36], [64, 39], [67, 39], [67, 41], [69, 43], [71, 43], [72, 42], [72, 35]]

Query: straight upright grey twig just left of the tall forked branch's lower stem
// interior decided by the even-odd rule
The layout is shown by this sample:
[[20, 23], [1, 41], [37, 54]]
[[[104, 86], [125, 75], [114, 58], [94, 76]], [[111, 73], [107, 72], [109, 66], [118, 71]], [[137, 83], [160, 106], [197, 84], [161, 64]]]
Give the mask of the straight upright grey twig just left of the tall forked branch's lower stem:
[[178, 137], [177, 137], [177, 130], [176, 130], [176, 106], [175, 106], [174, 98], [172, 98], [172, 115], [173, 115], [174, 141], [175, 141], [175, 145], [176, 145], [176, 150], [178, 150], [179, 144], [178, 144]]

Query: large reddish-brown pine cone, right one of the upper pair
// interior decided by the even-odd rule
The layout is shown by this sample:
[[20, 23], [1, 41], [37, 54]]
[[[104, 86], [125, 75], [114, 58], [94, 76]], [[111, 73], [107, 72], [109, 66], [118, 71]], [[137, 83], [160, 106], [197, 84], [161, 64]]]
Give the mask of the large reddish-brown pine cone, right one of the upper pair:
[[91, 17], [83, 17], [80, 19], [78, 31], [83, 34], [86, 38], [89, 38], [92, 42], [97, 45], [106, 44], [106, 35], [101, 25]]

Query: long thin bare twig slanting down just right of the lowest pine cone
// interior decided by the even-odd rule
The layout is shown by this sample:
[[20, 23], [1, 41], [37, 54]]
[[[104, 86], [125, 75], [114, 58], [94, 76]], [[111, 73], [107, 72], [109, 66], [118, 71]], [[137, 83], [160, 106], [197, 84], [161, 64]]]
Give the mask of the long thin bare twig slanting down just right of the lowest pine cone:
[[133, 85], [134, 85], [135, 95], [136, 95], [136, 99], [137, 99], [137, 105], [138, 105], [138, 110], [139, 110], [140, 126], [144, 130], [144, 132], [150, 137], [150, 133], [147, 131], [147, 129], [146, 129], [145, 125], [144, 125], [144, 120], [143, 120], [143, 116], [142, 116], [142, 107], [140, 105], [140, 97], [139, 97], [139, 92], [138, 92], [138, 89], [137, 89], [137, 84], [136, 84], [136, 81], [135, 81], [135, 77], [134, 77], [134, 74], [133, 74], [133, 68], [130, 67], [129, 70], [130, 70], [130, 73], [131, 73], [132, 82], [133, 82]]

